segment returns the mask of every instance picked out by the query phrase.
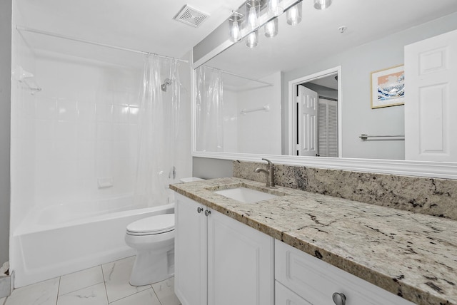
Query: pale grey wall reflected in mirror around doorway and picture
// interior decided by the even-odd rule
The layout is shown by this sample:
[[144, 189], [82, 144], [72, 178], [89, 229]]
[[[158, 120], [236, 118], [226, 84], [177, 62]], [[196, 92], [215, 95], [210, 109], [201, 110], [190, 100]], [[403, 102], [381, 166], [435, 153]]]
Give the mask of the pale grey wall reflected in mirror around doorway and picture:
[[[439, 33], [457, 29], [457, 14], [413, 27], [406, 31], [380, 38], [336, 56], [284, 73], [283, 78], [283, 139], [287, 138], [288, 81], [319, 71], [342, 67], [343, 157], [404, 159], [403, 141], [366, 141], [361, 133], [404, 134], [403, 108], [371, 109], [371, 72], [403, 64], [403, 48]], [[406, 101], [408, 91], [406, 89]], [[283, 141], [283, 149], [286, 143]]]

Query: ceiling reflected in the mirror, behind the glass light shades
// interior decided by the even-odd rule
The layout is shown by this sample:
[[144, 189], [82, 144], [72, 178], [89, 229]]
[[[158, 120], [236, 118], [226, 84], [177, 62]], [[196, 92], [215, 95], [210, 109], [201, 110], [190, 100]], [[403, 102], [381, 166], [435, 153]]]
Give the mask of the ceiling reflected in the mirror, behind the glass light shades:
[[[258, 32], [258, 46], [236, 43], [207, 66], [262, 78], [361, 46], [369, 41], [410, 29], [457, 11], [456, 0], [333, 0], [326, 10], [313, 8], [313, 0], [303, 0], [303, 20], [297, 26], [279, 18], [278, 36], [266, 38]], [[340, 33], [338, 28], [346, 26]]]

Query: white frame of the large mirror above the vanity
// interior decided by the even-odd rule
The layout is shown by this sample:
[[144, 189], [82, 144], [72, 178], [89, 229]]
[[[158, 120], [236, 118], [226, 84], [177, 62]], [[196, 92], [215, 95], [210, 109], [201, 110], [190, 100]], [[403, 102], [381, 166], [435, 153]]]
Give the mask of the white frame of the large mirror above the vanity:
[[[204, 48], [202, 44], [205, 41], [201, 41], [199, 45], [194, 47], [192, 50], [193, 64], [191, 73], [191, 99], [192, 99], [192, 111], [191, 111], [191, 142], [192, 142], [192, 157], [204, 157], [210, 159], [221, 159], [221, 160], [241, 160], [248, 162], [263, 162], [261, 158], [266, 157], [271, 162], [281, 165], [296, 165], [304, 167], [316, 167], [328, 170], [348, 170], [353, 172], [373, 172], [387, 175], [402, 175], [402, 176], [414, 176], [414, 177], [430, 177], [430, 178], [441, 178], [441, 179], [453, 179], [457, 180], [457, 162], [432, 162], [432, 161], [416, 161], [416, 160], [385, 160], [385, 159], [363, 159], [363, 158], [349, 158], [349, 157], [305, 157], [296, 155], [257, 155], [248, 153], [217, 153], [217, 152], [202, 152], [196, 151], [196, 120], [195, 120], [195, 106], [196, 106], [196, 68], [209, 61], [214, 56], [230, 48], [234, 43], [228, 38], [224, 38], [221, 35], [221, 31], [227, 33], [224, 22], [219, 26], [218, 29], [211, 33], [208, 38], [214, 39], [214, 37], [223, 37], [218, 43], [210, 43], [211, 48], [204, 50], [203, 56], [194, 57], [194, 49], [199, 48], [199, 53], [202, 53], [201, 49]], [[228, 26], [227, 26], [228, 27]], [[340, 78], [341, 79], [341, 78]], [[338, 82], [338, 86], [341, 85]], [[341, 88], [341, 87], [340, 87]], [[286, 88], [288, 90], [288, 88]], [[339, 94], [339, 93], [338, 93]]]

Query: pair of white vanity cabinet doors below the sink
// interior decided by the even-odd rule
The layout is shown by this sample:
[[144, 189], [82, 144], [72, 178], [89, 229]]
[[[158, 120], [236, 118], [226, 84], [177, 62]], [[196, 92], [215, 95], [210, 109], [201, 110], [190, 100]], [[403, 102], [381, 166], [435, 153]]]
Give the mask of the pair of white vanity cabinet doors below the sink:
[[273, 305], [274, 240], [176, 194], [175, 292], [183, 305]]

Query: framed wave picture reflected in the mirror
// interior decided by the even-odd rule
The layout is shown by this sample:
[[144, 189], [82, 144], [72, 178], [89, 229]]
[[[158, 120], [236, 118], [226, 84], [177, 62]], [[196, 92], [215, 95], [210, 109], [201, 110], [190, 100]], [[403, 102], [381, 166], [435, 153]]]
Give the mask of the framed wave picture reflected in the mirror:
[[403, 65], [371, 73], [371, 109], [404, 105], [405, 68]]

